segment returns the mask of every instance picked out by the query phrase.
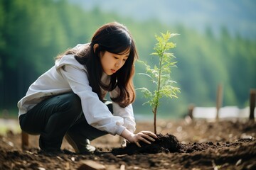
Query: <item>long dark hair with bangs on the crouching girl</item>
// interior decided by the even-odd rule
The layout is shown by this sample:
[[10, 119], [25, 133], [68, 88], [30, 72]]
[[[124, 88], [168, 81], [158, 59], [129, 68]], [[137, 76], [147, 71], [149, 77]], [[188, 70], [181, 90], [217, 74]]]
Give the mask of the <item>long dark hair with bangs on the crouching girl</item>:
[[[98, 47], [94, 51], [95, 44], [98, 44]], [[101, 81], [103, 70], [100, 62], [100, 52], [107, 51], [123, 55], [123, 52], [127, 52], [127, 50], [129, 50], [127, 61], [116, 73], [110, 76], [110, 84], [103, 84]], [[70, 54], [75, 55], [75, 59], [80, 64], [85, 65], [92, 91], [97, 94], [101, 101], [103, 101], [104, 96], [102, 96], [100, 87], [107, 91], [112, 91], [118, 86], [119, 95], [111, 98], [112, 101], [119, 103], [119, 106], [123, 108], [134, 102], [135, 91], [132, 78], [135, 72], [134, 62], [138, 59], [138, 55], [132, 35], [125, 26], [117, 22], [101, 26], [92, 36], [89, 46], [84, 47], [82, 50], [70, 49], [63, 55]], [[63, 55], [59, 55], [57, 58]]]

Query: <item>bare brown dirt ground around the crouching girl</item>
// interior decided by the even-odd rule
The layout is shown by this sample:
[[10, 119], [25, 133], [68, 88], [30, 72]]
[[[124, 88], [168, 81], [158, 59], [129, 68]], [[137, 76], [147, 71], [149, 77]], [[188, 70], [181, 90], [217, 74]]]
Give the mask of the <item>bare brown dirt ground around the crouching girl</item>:
[[[137, 122], [137, 131], [153, 131], [151, 122]], [[85, 161], [105, 169], [256, 169], [256, 123], [247, 120], [159, 120], [158, 132], [178, 139], [180, 149], [159, 149], [154, 153], [118, 151], [117, 136], [92, 141], [97, 153], [82, 155], [64, 140], [58, 156], [38, 154], [38, 136], [29, 136], [28, 149], [21, 149], [21, 134], [9, 131], [0, 136], [0, 169], [82, 169]], [[164, 149], [163, 149], [164, 148]], [[147, 150], [147, 149], [146, 149]], [[122, 150], [124, 151], [124, 150]]]

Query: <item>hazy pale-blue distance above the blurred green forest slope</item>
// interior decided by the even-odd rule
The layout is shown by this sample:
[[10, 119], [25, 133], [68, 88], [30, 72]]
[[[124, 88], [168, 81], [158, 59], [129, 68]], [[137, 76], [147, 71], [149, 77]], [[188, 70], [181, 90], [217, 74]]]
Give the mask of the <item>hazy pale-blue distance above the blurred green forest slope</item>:
[[232, 35], [256, 39], [255, 0], [68, 0], [86, 10], [95, 6], [102, 11], [146, 21], [156, 18], [164, 24], [181, 23], [204, 31], [210, 26], [214, 33], [221, 27], [228, 28]]

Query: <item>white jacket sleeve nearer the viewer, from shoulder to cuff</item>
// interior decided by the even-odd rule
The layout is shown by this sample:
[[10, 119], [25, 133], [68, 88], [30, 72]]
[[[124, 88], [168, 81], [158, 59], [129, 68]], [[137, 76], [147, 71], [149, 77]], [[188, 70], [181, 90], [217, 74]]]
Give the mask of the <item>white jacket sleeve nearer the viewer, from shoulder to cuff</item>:
[[66, 64], [56, 69], [62, 74], [63, 79], [68, 81], [72, 91], [80, 97], [82, 111], [87, 123], [112, 135], [121, 135], [125, 129], [124, 118], [119, 115], [112, 115], [107, 106], [92, 91], [85, 67], [82, 65]]

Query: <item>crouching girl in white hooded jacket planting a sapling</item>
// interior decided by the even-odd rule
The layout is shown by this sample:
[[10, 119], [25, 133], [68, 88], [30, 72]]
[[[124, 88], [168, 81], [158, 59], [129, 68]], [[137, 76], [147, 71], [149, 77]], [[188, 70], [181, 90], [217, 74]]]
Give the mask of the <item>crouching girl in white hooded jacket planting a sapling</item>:
[[50, 153], [62, 152], [63, 137], [77, 153], [94, 152], [90, 140], [107, 133], [139, 147], [139, 141], [150, 144], [153, 132], [134, 134], [135, 60], [137, 50], [126, 27], [107, 23], [98, 28], [90, 43], [59, 55], [18, 101], [21, 129], [40, 135], [41, 151]]

